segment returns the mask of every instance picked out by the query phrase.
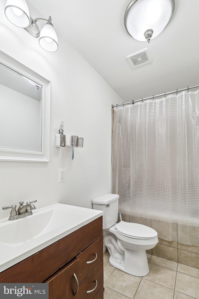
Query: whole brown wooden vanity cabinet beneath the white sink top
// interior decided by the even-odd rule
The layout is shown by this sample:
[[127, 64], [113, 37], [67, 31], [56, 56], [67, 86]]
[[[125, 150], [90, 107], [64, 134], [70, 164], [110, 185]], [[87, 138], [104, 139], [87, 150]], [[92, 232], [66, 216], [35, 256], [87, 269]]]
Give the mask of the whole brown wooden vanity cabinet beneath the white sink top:
[[49, 299], [103, 299], [102, 216], [3, 271], [0, 282], [49, 283]]

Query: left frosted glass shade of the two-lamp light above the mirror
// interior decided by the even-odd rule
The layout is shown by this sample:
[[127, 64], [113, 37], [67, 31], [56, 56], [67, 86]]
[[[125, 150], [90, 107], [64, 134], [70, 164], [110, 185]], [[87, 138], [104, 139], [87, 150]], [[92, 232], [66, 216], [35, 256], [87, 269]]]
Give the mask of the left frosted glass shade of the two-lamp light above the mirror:
[[25, 28], [30, 24], [30, 13], [25, 0], [7, 0], [5, 15], [17, 27]]

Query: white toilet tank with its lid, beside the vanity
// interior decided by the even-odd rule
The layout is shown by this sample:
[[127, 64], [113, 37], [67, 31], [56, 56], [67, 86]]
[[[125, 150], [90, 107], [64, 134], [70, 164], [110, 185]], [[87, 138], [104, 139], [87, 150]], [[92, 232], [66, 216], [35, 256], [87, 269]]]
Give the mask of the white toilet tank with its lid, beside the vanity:
[[92, 200], [93, 209], [104, 211], [103, 229], [109, 228], [118, 221], [118, 198], [117, 194], [104, 194]]

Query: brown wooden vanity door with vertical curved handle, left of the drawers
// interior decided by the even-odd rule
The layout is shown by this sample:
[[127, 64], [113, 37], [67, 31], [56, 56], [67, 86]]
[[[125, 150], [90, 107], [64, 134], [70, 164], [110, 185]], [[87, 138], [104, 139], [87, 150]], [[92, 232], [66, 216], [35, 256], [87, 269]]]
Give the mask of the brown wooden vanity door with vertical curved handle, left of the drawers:
[[79, 299], [79, 259], [75, 259], [44, 282], [49, 284], [49, 299]]

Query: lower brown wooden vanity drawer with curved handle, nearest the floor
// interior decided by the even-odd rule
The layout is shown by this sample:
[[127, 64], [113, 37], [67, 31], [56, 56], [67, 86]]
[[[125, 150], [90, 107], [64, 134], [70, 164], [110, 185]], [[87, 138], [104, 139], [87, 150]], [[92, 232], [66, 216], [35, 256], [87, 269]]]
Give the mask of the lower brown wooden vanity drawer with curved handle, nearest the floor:
[[103, 286], [103, 280], [103, 261], [101, 261], [95, 270], [93, 270], [93, 272], [91, 272], [90, 275], [79, 286], [80, 298], [93, 299], [99, 289]]

